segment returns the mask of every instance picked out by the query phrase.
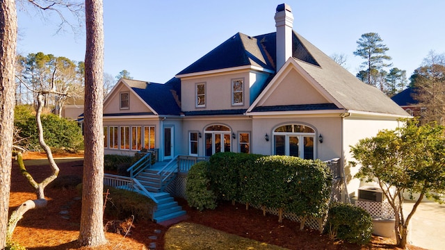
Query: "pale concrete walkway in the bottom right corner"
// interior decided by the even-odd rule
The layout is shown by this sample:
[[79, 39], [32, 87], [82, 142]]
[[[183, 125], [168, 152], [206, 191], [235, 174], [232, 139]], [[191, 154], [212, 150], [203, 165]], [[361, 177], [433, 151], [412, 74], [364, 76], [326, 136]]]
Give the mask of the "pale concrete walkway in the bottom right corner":
[[[405, 201], [403, 213], [407, 216], [414, 202]], [[430, 250], [445, 249], [445, 204], [422, 202], [410, 222], [409, 244]]]

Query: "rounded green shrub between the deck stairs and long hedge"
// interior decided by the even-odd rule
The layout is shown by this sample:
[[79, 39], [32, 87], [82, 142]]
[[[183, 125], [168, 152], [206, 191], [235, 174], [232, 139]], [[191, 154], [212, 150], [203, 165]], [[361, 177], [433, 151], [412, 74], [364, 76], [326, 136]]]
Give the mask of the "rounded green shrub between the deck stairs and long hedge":
[[209, 190], [209, 163], [196, 163], [188, 170], [186, 196], [188, 206], [197, 210], [215, 209], [216, 195]]

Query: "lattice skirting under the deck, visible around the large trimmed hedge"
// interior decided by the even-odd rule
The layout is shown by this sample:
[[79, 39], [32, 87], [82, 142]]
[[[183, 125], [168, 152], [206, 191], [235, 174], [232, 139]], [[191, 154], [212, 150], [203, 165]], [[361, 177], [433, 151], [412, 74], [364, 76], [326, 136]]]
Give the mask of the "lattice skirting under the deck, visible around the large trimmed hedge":
[[[172, 181], [167, 188], [165, 188], [165, 192], [172, 194], [173, 197], [179, 197], [182, 199], [187, 199], [186, 197], [186, 184], [187, 184], [187, 174], [179, 173], [177, 174], [175, 181]], [[332, 195], [330, 198], [330, 203], [335, 201], [341, 201], [341, 194], [343, 193], [343, 182], [341, 179], [332, 181]], [[261, 207], [253, 206], [259, 210], [262, 210]], [[278, 216], [277, 208], [266, 208], [266, 213], [271, 215]], [[283, 217], [286, 219], [290, 219], [293, 222], [301, 223], [302, 217], [297, 216], [293, 213], [283, 213]], [[325, 226], [327, 217], [324, 218], [314, 218], [308, 217], [305, 222], [305, 227], [312, 228], [314, 230], [323, 231]]]

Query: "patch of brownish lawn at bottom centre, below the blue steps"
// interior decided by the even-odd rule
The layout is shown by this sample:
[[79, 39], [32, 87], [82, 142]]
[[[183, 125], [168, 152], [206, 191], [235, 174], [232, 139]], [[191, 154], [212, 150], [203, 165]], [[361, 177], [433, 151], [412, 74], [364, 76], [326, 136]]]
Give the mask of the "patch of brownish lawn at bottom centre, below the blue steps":
[[284, 249], [188, 222], [171, 226], [164, 235], [164, 242], [165, 250]]

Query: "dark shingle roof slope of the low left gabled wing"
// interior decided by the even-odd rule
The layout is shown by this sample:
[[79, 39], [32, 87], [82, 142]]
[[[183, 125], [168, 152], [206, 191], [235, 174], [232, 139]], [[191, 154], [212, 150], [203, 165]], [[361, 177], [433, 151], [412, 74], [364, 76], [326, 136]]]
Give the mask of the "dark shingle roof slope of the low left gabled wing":
[[159, 115], [181, 113], [181, 80], [172, 78], [165, 84], [122, 79], [138, 96]]

